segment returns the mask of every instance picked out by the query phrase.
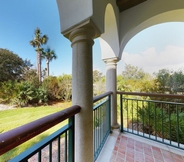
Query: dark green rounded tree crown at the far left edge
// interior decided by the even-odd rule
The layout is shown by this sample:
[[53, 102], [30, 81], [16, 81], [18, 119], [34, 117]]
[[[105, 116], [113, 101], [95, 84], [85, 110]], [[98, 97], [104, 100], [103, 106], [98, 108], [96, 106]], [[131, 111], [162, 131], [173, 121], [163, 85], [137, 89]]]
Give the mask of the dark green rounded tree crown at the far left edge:
[[0, 48], [0, 82], [21, 80], [24, 70], [32, 66], [28, 62], [13, 52]]

